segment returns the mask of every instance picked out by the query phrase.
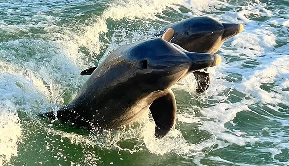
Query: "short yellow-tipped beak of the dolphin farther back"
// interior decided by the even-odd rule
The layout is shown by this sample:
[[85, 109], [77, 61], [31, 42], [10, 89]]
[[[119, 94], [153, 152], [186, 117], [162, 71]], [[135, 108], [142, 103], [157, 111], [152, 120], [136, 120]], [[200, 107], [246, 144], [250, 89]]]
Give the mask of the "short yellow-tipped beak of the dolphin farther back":
[[227, 24], [223, 23], [223, 26], [225, 27], [222, 39], [226, 40], [230, 37], [235, 36], [236, 34], [242, 32], [244, 30], [244, 26], [242, 24]]

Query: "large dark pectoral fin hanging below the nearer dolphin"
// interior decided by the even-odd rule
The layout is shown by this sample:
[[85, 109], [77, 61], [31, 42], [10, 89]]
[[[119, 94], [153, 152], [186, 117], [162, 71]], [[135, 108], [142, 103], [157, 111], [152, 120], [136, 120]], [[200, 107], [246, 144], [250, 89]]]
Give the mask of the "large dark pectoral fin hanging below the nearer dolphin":
[[177, 104], [173, 91], [170, 89], [164, 96], [153, 101], [149, 109], [155, 121], [155, 136], [162, 138], [175, 124]]

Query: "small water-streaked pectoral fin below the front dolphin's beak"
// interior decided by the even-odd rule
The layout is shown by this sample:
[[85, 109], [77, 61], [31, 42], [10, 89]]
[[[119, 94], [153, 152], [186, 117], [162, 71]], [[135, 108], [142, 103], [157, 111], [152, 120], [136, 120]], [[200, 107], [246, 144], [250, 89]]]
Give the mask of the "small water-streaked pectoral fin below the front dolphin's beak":
[[[207, 71], [207, 69], [205, 69], [205, 71]], [[210, 73], [200, 71], [195, 71], [193, 73], [197, 80], [196, 92], [199, 94], [205, 92], [210, 86]]]

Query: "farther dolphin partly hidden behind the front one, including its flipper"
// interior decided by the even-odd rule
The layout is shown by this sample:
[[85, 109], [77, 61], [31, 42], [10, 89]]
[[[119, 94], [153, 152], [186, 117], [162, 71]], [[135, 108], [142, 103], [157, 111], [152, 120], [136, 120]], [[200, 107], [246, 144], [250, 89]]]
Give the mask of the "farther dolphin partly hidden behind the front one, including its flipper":
[[[216, 53], [222, 44], [229, 38], [242, 32], [244, 26], [234, 23], [220, 23], [209, 17], [192, 17], [170, 24], [164, 30], [173, 28], [172, 43], [175, 43], [190, 52]], [[163, 34], [163, 31], [160, 32]], [[205, 69], [206, 71], [206, 69]], [[210, 85], [210, 75], [196, 71], [196, 92], [202, 93]]]

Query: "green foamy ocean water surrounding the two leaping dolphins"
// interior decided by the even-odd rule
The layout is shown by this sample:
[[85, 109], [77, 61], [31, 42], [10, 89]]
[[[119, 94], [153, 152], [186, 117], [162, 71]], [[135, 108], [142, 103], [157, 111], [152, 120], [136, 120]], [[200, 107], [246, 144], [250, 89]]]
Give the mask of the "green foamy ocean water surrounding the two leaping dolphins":
[[[289, 165], [288, 0], [1, 0], [0, 166]], [[95, 66], [161, 27], [208, 16], [242, 23], [196, 94], [173, 87], [176, 126], [156, 140], [151, 115], [89, 133], [37, 115], [68, 104]]]

